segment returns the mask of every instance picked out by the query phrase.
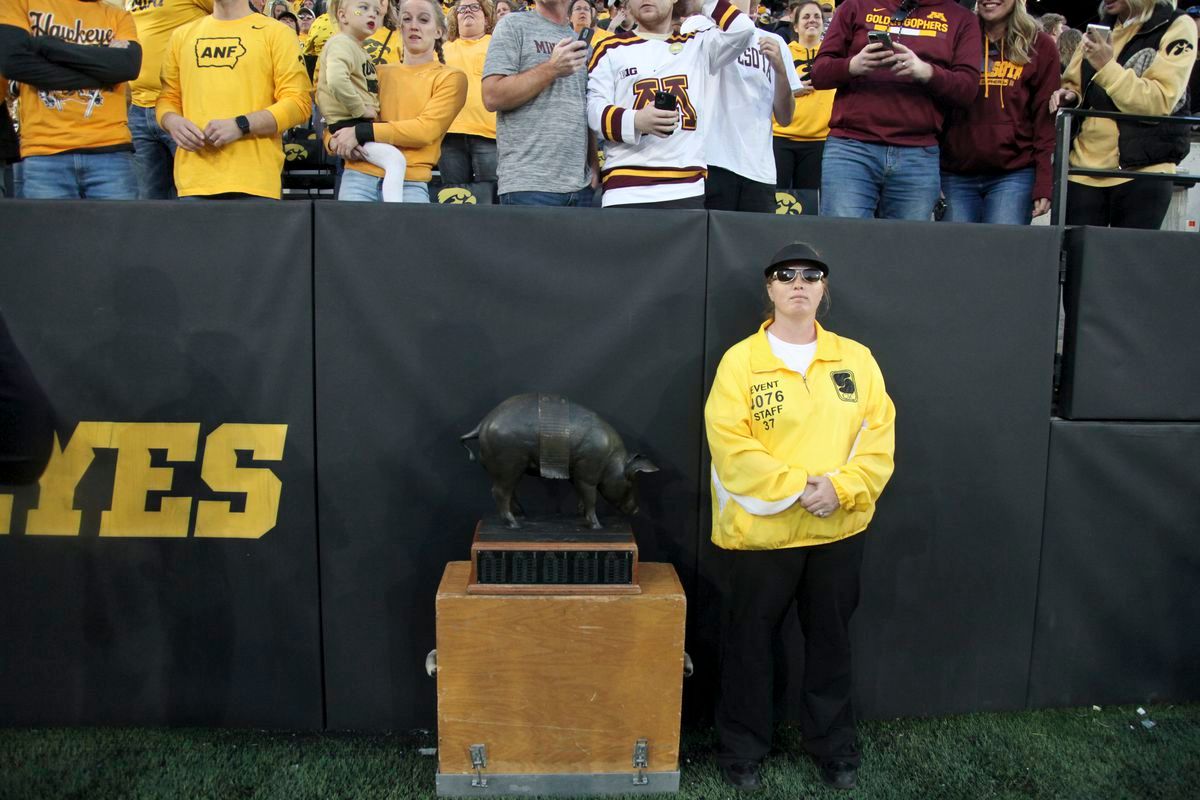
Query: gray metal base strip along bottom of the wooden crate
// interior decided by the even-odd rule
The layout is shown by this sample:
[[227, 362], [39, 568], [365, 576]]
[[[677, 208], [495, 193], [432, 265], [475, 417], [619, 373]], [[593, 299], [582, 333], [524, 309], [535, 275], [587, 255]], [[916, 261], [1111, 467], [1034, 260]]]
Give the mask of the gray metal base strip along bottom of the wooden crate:
[[491, 775], [484, 774], [486, 787], [472, 786], [474, 775], [443, 775], [438, 772], [439, 798], [488, 798], [514, 795], [578, 796], [601, 794], [661, 794], [679, 790], [679, 770], [644, 772], [646, 784], [634, 784], [634, 772], [553, 774], [553, 775]]

